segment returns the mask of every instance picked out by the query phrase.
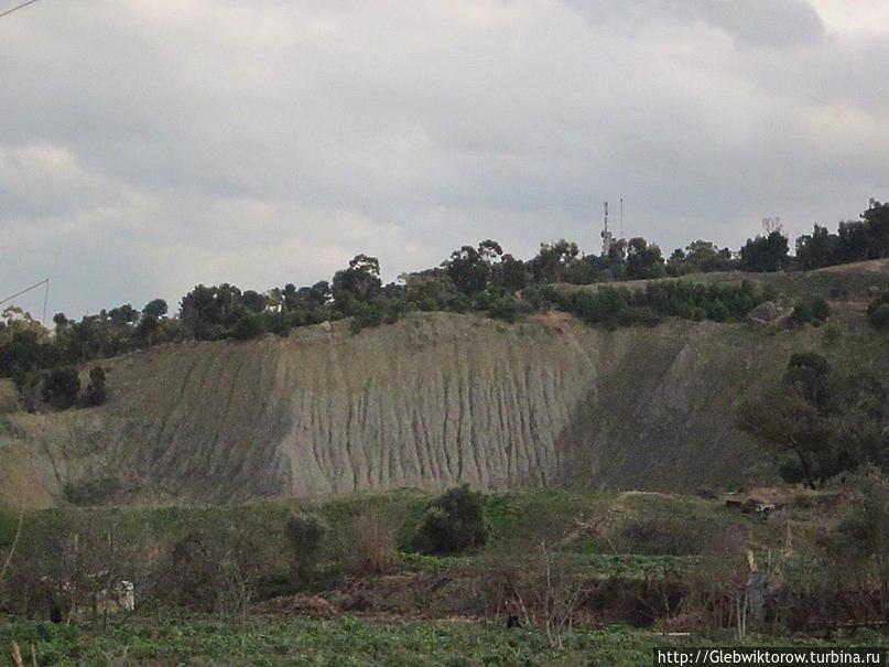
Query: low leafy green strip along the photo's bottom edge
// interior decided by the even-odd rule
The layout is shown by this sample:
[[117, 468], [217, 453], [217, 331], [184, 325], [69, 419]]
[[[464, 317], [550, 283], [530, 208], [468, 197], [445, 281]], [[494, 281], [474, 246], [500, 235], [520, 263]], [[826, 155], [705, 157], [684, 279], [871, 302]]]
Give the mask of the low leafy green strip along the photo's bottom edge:
[[[530, 630], [470, 621], [379, 622], [354, 617], [333, 621], [282, 616], [174, 616], [137, 618], [105, 630], [0, 621], [0, 646], [33, 645], [41, 665], [250, 665], [442, 667], [503, 665], [651, 664], [654, 647], [825, 646], [814, 641], [726, 637], [669, 637], [620, 626], [575, 630], [561, 648]], [[887, 645], [867, 634], [858, 645]], [[836, 645], [836, 644], [831, 644]]]

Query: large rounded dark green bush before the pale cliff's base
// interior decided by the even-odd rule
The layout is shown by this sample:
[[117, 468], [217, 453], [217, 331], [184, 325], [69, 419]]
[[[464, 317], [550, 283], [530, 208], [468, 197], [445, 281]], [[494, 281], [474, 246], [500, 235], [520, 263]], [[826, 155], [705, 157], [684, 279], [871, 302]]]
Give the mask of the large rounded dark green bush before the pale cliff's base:
[[416, 527], [414, 548], [421, 553], [459, 553], [487, 540], [484, 496], [464, 484], [429, 504]]

